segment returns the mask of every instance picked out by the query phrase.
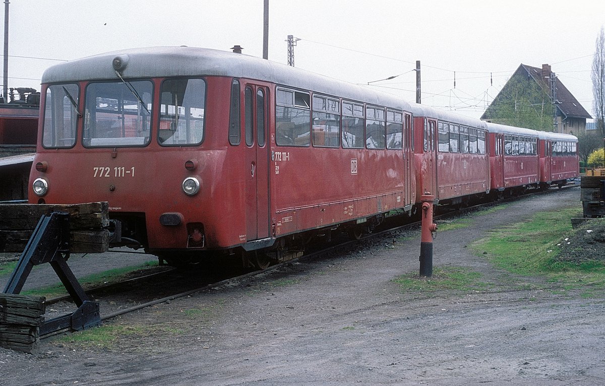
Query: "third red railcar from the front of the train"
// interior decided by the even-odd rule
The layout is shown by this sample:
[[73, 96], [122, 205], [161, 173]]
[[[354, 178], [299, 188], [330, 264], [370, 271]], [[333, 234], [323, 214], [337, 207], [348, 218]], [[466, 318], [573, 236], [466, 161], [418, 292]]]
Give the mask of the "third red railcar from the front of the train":
[[540, 184], [538, 132], [486, 123], [489, 131], [491, 189], [517, 193]]

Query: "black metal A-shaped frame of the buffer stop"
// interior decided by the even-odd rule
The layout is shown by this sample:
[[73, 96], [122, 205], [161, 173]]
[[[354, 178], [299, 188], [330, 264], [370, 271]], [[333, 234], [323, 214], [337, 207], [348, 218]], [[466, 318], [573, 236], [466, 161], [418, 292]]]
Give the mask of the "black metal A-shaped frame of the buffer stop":
[[80, 331], [101, 324], [99, 303], [90, 300], [67, 265], [70, 255], [69, 240], [68, 213], [53, 212], [43, 215], [4, 288], [4, 293], [18, 294], [34, 266], [50, 263], [78, 308], [69, 315], [45, 321], [40, 328], [41, 335], [67, 328]]

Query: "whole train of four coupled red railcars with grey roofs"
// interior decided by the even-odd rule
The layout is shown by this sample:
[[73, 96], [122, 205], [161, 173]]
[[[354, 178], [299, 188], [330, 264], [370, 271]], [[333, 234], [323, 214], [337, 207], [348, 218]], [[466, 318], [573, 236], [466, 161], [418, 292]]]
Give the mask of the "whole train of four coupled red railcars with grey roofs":
[[440, 111], [237, 52], [132, 48], [42, 76], [30, 203], [108, 201], [113, 244], [266, 267], [420, 196], [465, 205], [578, 175], [577, 138]]

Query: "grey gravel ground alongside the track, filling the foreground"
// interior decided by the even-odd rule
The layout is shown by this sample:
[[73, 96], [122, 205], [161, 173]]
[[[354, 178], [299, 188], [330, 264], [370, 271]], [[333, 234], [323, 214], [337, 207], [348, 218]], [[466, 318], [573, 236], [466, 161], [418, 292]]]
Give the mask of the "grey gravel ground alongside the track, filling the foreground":
[[393, 278], [417, 272], [419, 232], [393, 235], [126, 315], [107, 324], [123, 334], [111, 345], [0, 349], [0, 385], [605, 384], [603, 295], [550, 291], [467, 248], [579, 196], [523, 198], [437, 232], [434, 265], [482, 273], [485, 291], [402, 292]]

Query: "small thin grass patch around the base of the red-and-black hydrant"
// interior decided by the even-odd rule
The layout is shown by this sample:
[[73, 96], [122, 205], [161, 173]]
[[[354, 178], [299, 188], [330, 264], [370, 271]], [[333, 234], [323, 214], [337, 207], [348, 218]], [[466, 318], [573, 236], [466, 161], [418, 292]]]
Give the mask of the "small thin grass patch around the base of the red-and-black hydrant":
[[481, 273], [468, 267], [434, 267], [431, 278], [419, 277], [417, 273], [408, 273], [395, 278], [402, 292], [436, 293], [440, 290], [472, 292], [486, 290], [491, 284], [481, 281]]

